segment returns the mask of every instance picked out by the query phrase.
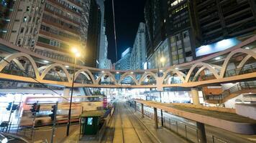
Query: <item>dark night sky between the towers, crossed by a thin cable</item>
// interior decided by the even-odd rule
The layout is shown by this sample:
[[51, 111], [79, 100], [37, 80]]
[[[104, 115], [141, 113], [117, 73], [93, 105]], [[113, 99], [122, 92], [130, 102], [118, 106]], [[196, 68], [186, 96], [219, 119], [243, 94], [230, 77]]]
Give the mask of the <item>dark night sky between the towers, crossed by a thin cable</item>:
[[[144, 22], [146, 0], [114, 0], [116, 19], [116, 42], [118, 59], [127, 47], [132, 47], [138, 26]], [[116, 61], [114, 46], [114, 24], [111, 0], [105, 1], [106, 36], [108, 38], [108, 58]]]

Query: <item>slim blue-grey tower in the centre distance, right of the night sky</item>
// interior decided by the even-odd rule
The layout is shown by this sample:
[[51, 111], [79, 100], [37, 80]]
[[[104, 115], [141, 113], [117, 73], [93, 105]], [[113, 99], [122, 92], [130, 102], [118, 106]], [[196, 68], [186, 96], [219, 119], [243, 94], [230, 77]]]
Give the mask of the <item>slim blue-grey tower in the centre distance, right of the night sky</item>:
[[131, 54], [131, 69], [144, 69], [146, 62], [145, 24], [140, 23]]

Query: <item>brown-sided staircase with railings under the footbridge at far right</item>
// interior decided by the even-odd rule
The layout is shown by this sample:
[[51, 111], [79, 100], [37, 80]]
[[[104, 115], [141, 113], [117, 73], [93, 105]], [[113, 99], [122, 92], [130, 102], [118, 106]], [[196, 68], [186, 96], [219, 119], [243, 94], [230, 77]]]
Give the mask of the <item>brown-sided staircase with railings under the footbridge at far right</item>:
[[207, 103], [222, 104], [245, 93], [256, 93], [256, 82], [239, 82], [239, 84], [234, 85], [234, 87], [225, 90], [219, 95], [205, 95], [205, 97]]

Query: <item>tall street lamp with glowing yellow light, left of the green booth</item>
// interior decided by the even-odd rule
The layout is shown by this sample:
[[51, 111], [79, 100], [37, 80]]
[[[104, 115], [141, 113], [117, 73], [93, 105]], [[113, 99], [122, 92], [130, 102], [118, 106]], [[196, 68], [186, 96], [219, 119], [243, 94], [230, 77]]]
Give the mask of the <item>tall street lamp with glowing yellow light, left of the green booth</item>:
[[75, 63], [73, 67], [73, 79], [72, 79], [72, 87], [71, 87], [71, 96], [69, 102], [69, 110], [68, 110], [68, 124], [67, 124], [67, 136], [69, 135], [69, 128], [70, 128], [70, 118], [71, 118], [71, 106], [72, 106], [72, 98], [73, 98], [73, 89], [74, 89], [74, 82], [75, 82], [75, 74], [76, 74], [76, 59], [81, 56], [78, 49], [73, 47], [71, 49], [72, 53], [75, 55]]

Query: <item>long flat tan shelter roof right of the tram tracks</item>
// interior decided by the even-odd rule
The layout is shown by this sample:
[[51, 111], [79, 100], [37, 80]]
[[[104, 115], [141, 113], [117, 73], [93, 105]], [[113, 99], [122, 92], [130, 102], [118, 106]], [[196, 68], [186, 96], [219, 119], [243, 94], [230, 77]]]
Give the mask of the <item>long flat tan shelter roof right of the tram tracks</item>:
[[[197, 123], [209, 124], [239, 134], [256, 134], [256, 120], [236, 114], [234, 109], [203, 107], [192, 104], [166, 104], [136, 99], [143, 106], [162, 109], [178, 117], [191, 119]], [[157, 114], [157, 112], [155, 112]]]

